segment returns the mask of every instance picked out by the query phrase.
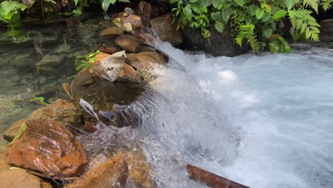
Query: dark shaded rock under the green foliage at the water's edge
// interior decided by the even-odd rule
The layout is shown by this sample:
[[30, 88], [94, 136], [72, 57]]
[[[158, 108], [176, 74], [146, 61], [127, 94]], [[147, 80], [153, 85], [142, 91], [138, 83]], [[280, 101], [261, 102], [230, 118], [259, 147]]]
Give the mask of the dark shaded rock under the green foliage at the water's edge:
[[183, 31], [182, 48], [190, 51], [205, 51], [212, 56], [233, 57], [248, 51], [249, 46], [238, 46], [228, 29], [224, 29], [223, 33], [219, 33], [213, 28], [211, 37], [205, 39], [201, 36], [201, 32], [198, 29], [186, 28]]

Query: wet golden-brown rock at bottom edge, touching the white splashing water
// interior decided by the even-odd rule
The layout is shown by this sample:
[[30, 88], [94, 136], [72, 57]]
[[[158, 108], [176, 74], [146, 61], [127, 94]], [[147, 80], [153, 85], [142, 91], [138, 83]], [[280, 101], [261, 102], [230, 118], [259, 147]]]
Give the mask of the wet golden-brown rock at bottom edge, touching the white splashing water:
[[124, 159], [128, 164], [129, 177], [127, 184], [134, 184], [137, 188], [155, 187], [153, 169], [141, 151], [120, 151], [115, 154], [115, 157]]

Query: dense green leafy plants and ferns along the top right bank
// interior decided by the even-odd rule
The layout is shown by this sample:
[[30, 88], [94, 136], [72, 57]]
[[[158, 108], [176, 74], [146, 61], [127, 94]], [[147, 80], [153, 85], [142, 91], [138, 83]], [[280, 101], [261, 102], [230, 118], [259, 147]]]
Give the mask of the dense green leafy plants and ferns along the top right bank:
[[312, 11], [318, 13], [319, 6], [332, 8], [333, 0], [171, 0], [171, 4], [178, 28], [199, 28], [204, 38], [211, 36], [213, 26], [220, 33], [228, 28], [238, 45], [249, 43], [254, 53], [266, 43], [272, 43], [272, 52], [289, 53], [290, 46], [282, 36], [268, 40], [277, 26], [284, 27], [289, 19], [293, 38], [319, 41], [319, 24]]

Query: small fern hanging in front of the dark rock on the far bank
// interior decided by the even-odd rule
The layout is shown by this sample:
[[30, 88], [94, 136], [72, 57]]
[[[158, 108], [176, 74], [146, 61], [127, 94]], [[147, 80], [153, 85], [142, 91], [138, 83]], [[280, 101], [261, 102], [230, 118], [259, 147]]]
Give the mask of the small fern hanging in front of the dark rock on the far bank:
[[247, 42], [250, 44], [253, 53], [260, 51], [260, 42], [255, 36], [254, 33], [255, 25], [253, 23], [248, 23], [245, 25], [240, 25], [239, 34], [236, 37], [236, 43], [239, 46], [242, 46], [244, 38], [246, 38]]

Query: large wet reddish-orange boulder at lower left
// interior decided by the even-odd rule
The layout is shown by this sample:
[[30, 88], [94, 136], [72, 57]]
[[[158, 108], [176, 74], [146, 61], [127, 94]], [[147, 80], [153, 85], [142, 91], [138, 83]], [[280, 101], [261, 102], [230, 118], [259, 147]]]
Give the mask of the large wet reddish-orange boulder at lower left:
[[26, 131], [6, 148], [6, 162], [63, 179], [77, 176], [88, 159], [65, 125], [56, 120], [38, 119], [28, 120]]

